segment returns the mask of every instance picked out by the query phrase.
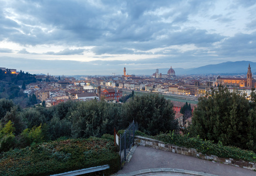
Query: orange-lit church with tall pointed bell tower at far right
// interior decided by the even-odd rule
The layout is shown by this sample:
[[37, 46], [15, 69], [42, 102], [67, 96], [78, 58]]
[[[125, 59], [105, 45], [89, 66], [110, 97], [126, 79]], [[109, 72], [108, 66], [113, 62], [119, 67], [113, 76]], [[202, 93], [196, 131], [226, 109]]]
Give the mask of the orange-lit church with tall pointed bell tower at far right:
[[247, 78], [231, 78], [218, 76], [215, 80], [214, 86], [231, 86], [231, 87], [256, 87], [256, 80], [252, 78], [251, 66], [249, 63], [247, 70]]

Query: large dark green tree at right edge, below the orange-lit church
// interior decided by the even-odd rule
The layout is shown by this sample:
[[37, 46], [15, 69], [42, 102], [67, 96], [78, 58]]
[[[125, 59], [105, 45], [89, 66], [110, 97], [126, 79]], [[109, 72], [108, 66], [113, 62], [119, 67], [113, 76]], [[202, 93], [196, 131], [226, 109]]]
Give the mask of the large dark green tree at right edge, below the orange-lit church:
[[191, 133], [215, 143], [252, 148], [256, 142], [256, 111], [252, 106], [238, 92], [230, 93], [219, 87], [208, 97], [200, 97], [193, 113]]

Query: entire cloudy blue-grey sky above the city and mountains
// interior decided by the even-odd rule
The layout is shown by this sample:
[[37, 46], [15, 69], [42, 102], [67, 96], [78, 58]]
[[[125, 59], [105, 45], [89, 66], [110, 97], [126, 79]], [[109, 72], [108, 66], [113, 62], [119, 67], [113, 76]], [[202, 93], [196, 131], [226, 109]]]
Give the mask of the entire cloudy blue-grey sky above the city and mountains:
[[170, 66], [256, 62], [255, 0], [0, 4], [0, 67], [50, 75], [112, 75], [122, 74], [124, 66], [136, 74]]

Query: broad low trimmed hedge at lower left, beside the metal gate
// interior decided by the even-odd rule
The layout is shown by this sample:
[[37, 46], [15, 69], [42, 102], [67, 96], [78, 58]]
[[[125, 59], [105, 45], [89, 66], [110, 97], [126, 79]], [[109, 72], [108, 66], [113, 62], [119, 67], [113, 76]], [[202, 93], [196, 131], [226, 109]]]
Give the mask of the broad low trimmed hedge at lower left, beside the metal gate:
[[120, 169], [119, 154], [110, 140], [57, 140], [2, 153], [0, 175], [50, 175], [106, 164], [110, 168], [103, 171], [105, 175]]

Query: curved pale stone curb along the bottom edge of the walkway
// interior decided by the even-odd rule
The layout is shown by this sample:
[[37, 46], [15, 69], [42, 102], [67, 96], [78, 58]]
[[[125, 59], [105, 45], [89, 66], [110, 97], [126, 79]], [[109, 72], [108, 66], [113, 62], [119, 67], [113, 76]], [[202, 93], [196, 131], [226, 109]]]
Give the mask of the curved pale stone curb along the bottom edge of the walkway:
[[126, 174], [113, 174], [115, 176], [134, 176], [134, 175], [142, 175], [142, 174], [164, 174], [164, 173], [170, 173], [170, 174], [191, 174], [191, 175], [200, 175], [200, 176], [217, 176], [213, 174], [207, 174], [204, 172], [196, 172], [196, 171], [188, 171], [188, 170], [181, 170], [176, 168], [150, 168], [146, 170], [139, 170], [139, 171], [133, 171]]

